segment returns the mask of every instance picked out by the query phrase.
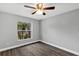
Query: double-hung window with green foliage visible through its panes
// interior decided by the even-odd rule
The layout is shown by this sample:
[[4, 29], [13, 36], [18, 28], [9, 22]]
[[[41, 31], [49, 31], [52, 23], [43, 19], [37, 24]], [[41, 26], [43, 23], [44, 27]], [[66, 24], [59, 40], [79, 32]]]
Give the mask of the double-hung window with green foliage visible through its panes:
[[17, 22], [18, 39], [31, 38], [31, 23]]

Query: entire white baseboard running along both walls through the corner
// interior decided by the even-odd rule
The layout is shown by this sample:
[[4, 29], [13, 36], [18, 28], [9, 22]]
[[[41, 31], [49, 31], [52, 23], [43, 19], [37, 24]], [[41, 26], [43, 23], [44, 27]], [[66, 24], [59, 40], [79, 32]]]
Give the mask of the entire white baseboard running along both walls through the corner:
[[75, 51], [73, 51], [73, 50], [70, 50], [70, 49], [67, 49], [67, 48], [64, 48], [64, 47], [55, 45], [55, 44], [51, 44], [51, 43], [48, 43], [48, 42], [45, 42], [45, 41], [42, 41], [42, 40], [36, 40], [36, 41], [28, 42], [28, 43], [23, 43], [23, 44], [19, 44], [19, 45], [11, 46], [11, 47], [3, 48], [3, 49], [0, 49], [0, 52], [2, 52], [2, 51], [6, 51], [6, 50], [9, 50], [9, 49], [13, 49], [13, 48], [17, 48], [17, 47], [20, 47], [20, 46], [23, 46], [23, 45], [28, 45], [28, 44], [31, 44], [31, 43], [35, 43], [35, 42], [38, 42], [38, 41], [41, 41], [41, 42], [46, 43], [46, 44], [48, 44], [48, 45], [51, 45], [51, 46], [60, 48], [60, 49], [62, 49], [62, 50], [68, 51], [68, 52], [70, 52], [70, 53], [79, 55], [78, 52], [75, 52]]

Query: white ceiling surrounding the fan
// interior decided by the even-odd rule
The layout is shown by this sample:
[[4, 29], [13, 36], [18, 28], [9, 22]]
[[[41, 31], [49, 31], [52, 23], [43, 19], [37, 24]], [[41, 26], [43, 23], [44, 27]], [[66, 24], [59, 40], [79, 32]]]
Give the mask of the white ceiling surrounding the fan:
[[46, 11], [47, 15], [44, 16], [40, 14], [32, 15], [31, 13], [34, 10], [25, 8], [24, 5], [35, 6], [34, 3], [0, 3], [0, 11], [41, 20], [79, 8], [79, 3], [45, 3], [44, 6], [55, 6], [56, 8]]

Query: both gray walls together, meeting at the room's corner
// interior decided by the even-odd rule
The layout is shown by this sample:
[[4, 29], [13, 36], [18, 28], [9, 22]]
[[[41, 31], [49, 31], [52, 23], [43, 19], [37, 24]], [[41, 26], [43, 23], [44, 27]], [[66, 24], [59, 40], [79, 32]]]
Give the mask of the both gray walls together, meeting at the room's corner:
[[[33, 25], [32, 39], [18, 40], [18, 21], [30, 22]], [[0, 12], [0, 50], [39, 39], [79, 53], [79, 10], [43, 21]]]

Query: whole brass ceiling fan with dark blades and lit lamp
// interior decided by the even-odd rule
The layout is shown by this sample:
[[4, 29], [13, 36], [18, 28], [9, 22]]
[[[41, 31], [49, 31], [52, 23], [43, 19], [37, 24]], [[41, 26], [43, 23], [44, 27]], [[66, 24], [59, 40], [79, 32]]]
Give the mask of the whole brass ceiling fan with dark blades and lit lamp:
[[32, 6], [28, 6], [28, 5], [24, 5], [24, 7], [35, 9], [35, 11], [32, 13], [32, 15], [35, 13], [46, 15], [45, 10], [54, 10], [55, 9], [55, 6], [44, 7], [43, 3], [36, 4], [36, 7], [32, 7]]

